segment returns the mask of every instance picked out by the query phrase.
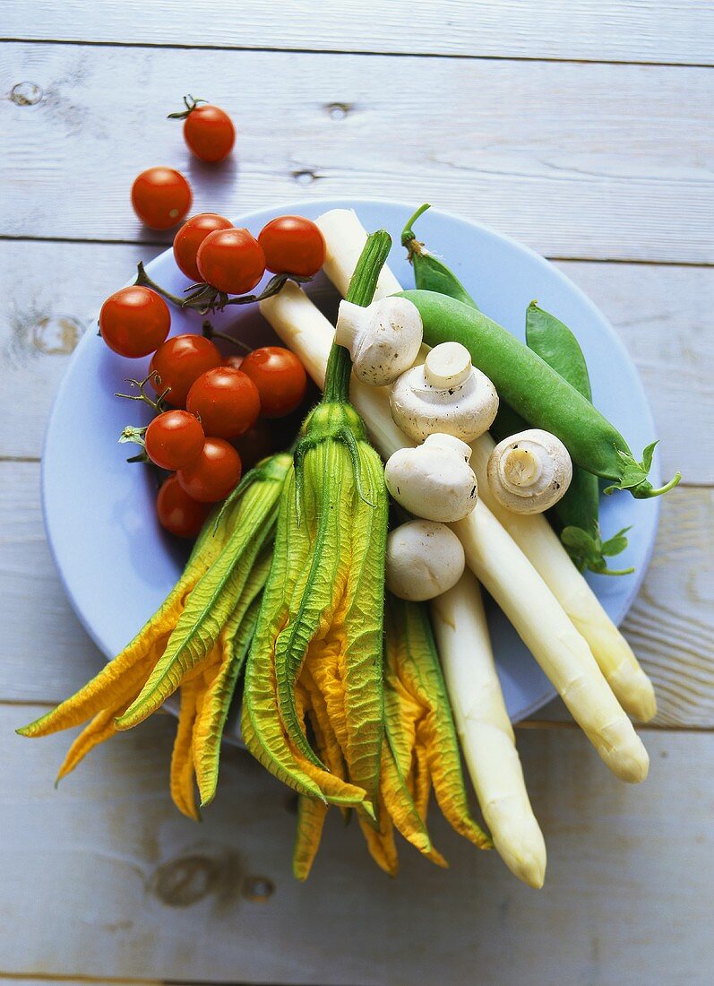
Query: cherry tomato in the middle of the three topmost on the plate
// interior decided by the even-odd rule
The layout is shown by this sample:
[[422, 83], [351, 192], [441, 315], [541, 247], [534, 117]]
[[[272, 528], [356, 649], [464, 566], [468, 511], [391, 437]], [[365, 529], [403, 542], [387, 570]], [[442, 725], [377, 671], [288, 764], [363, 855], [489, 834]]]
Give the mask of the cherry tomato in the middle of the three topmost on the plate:
[[265, 273], [260, 244], [247, 230], [215, 230], [198, 248], [201, 277], [227, 295], [252, 291]]

